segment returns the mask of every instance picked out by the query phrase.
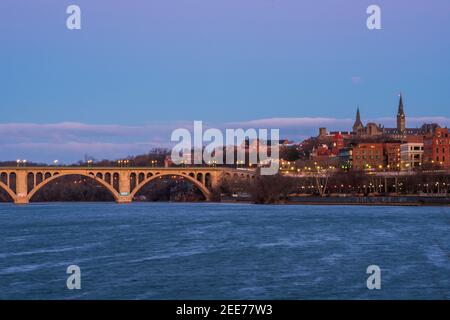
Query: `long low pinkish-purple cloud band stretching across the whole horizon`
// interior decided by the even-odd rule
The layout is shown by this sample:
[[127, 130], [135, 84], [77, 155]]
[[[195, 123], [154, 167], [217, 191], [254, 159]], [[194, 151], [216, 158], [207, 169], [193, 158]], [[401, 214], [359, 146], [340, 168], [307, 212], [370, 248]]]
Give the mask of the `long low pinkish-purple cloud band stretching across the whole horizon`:
[[[269, 118], [230, 123], [204, 123], [204, 128], [267, 128], [280, 129], [281, 138], [300, 142], [315, 136], [319, 127], [331, 131], [347, 131], [353, 119], [339, 118]], [[369, 119], [367, 122], [395, 127], [395, 118]], [[439, 123], [449, 126], [447, 117], [407, 118], [408, 127], [420, 127], [423, 123]], [[0, 124], [0, 161], [27, 159], [51, 163], [58, 159], [73, 163], [88, 154], [96, 159], [118, 159], [148, 152], [154, 147], [169, 148], [171, 133], [176, 128], [192, 132], [193, 122], [155, 122], [142, 126], [95, 125], [73, 122], [55, 124], [6, 123]]]

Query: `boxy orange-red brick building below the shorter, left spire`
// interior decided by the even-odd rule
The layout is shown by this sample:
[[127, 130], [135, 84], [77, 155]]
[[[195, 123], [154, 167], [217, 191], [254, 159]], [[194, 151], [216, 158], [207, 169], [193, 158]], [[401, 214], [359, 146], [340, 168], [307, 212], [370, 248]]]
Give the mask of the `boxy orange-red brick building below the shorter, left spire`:
[[384, 167], [382, 143], [359, 143], [352, 150], [353, 170], [367, 170]]

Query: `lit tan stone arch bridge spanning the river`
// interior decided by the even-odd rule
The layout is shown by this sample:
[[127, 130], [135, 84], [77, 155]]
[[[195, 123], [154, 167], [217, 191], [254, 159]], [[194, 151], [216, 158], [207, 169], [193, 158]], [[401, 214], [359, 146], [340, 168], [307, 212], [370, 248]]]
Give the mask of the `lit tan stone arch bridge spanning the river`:
[[254, 170], [232, 168], [102, 168], [102, 167], [13, 167], [0, 168], [0, 189], [8, 193], [16, 204], [27, 204], [47, 184], [60, 177], [80, 175], [88, 177], [106, 188], [118, 203], [129, 203], [143, 186], [163, 177], [182, 178], [191, 182], [204, 195], [212, 199], [212, 190], [222, 178], [250, 180]]

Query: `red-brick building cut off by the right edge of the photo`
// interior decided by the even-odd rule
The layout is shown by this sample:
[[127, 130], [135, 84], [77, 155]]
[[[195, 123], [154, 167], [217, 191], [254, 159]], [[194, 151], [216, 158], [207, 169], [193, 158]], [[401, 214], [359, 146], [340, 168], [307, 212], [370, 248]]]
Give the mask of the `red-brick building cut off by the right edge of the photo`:
[[436, 128], [433, 135], [424, 137], [423, 145], [424, 163], [450, 168], [450, 137], [447, 128]]

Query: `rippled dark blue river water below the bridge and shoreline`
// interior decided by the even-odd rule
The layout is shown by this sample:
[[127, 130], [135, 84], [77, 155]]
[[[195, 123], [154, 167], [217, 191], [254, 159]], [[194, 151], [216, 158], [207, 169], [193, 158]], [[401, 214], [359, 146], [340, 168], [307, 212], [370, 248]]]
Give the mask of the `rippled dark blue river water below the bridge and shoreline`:
[[1, 204], [0, 299], [450, 299], [450, 208]]

